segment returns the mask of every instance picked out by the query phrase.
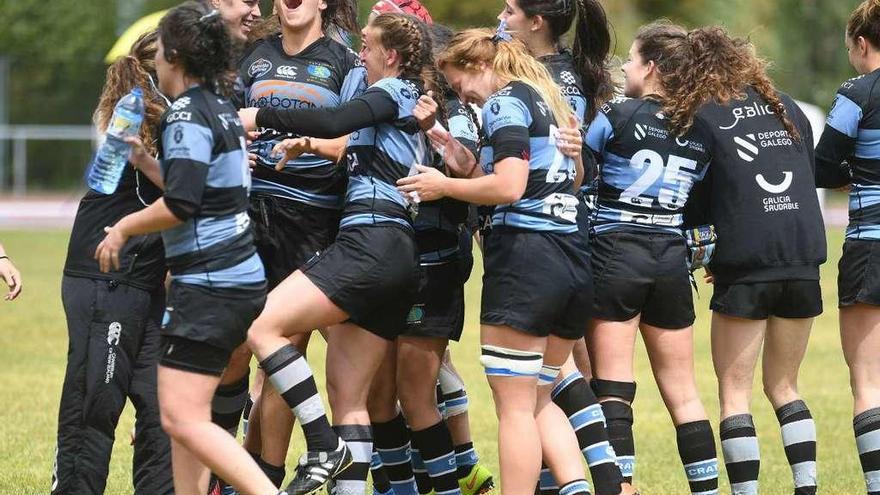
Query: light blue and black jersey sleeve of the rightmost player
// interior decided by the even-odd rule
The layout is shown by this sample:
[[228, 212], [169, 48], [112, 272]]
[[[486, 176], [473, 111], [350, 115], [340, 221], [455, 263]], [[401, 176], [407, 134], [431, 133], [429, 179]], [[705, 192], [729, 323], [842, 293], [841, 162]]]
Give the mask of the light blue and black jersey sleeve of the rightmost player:
[[844, 162], [852, 156], [862, 121], [862, 107], [843, 88], [825, 121], [825, 130], [816, 146], [816, 186], [842, 187], [850, 182]]

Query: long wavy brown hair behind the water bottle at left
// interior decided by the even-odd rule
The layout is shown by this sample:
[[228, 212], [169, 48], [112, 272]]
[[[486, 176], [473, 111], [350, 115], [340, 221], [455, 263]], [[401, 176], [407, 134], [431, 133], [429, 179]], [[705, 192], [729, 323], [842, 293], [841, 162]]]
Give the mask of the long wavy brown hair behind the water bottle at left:
[[140, 138], [151, 154], [156, 153], [156, 133], [166, 108], [165, 100], [150, 81], [151, 77], [155, 78], [156, 73], [154, 58], [157, 40], [156, 31], [142, 35], [131, 46], [128, 55], [119, 58], [107, 68], [107, 80], [92, 116], [98, 131], [105, 132], [110, 125], [116, 103], [132, 89], [141, 88], [144, 93], [145, 113]]

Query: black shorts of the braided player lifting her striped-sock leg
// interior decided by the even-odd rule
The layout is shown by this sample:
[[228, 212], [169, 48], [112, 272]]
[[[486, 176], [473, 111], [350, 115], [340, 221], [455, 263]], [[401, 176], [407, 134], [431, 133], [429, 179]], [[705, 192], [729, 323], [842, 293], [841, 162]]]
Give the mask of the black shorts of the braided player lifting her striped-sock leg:
[[419, 287], [418, 266], [412, 232], [368, 225], [341, 230], [302, 271], [352, 323], [394, 340]]

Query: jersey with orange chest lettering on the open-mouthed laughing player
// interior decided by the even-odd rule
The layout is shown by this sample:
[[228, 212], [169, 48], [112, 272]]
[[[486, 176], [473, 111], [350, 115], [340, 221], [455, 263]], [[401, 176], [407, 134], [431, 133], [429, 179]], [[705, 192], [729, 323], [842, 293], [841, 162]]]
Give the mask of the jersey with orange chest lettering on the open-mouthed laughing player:
[[[263, 40], [242, 60], [240, 77], [247, 107], [298, 109], [336, 107], [363, 92], [365, 70], [349, 48], [320, 38], [300, 53], [284, 52], [281, 37]], [[323, 157], [304, 154], [275, 170], [272, 148], [292, 137], [265, 129], [249, 146], [257, 155], [253, 191], [321, 208], [340, 209], [345, 171]]]

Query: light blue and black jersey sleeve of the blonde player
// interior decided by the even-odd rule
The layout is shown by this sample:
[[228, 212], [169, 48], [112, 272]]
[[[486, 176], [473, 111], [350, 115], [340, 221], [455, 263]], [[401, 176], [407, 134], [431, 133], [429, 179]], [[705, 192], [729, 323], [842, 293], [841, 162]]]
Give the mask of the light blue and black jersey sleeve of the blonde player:
[[531, 154], [531, 112], [525, 102], [512, 96], [494, 96], [483, 106], [483, 127], [492, 146], [492, 161], [505, 158], [528, 160]]

